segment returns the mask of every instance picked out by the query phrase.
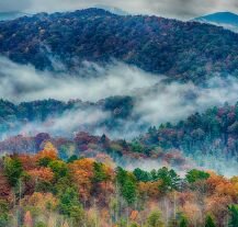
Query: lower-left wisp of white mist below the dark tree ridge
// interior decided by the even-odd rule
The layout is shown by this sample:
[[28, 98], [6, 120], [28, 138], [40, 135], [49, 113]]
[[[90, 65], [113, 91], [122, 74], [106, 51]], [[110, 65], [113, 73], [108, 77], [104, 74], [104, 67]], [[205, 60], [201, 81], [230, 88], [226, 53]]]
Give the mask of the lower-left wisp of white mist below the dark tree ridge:
[[[54, 136], [71, 137], [78, 132], [90, 132], [94, 135], [102, 135], [103, 128], [99, 123], [110, 117], [110, 114], [95, 107], [73, 110], [64, 113], [61, 116], [47, 118], [45, 122], [30, 122], [22, 124], [19, 132], [11, 134], [33, 135], [46, 132]], [[8, 137], [8, 136], [7, 136]]]

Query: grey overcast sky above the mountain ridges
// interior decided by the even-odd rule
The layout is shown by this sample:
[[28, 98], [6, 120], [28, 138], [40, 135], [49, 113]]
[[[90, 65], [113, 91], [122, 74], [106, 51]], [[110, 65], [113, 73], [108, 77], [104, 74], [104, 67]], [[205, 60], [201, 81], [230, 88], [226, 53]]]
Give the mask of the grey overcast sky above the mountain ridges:
[[238, 12], [238, 0], [0, 0], [0, 11], [71, 11], [97, 4], [177, 19], [192, 19], [216, 11]]

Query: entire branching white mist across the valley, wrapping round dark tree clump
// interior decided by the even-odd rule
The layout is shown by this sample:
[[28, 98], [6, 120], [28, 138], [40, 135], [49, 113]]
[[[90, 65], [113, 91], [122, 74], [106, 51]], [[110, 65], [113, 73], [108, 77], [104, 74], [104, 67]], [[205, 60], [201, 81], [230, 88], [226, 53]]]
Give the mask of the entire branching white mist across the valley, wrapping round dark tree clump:
[[[55, 65], [61, 67], [56, 60]], [[166, 76], [148, 73], [118, 61], [105, 67], [86, 61], [78, 71], [79, 75], [38, 71], [33, 66], [0, 57], [0, 98], [14, 103], [49, 98], [100, 103], [110, 97], [129, 95], [135, 104], [129, 120], [121, 120], [122, 132], [118, 128], [107, 132], [102, 127], [99, 123], [112, 114], [94, 106], [67, 111], [50, 116], [45, 123], [30, 122], [14, 133], [33, 133], [38, 128], [53, 135], [71, 135], [81, 128], [97, 135], [107, 133], [112, 137], [133, 138], [149, 126], [175, 123], [211, 106], [238, 101], [238, 80], [231, 76], [215, 77], [199, 87], [192, 82], [167, 82]]]

